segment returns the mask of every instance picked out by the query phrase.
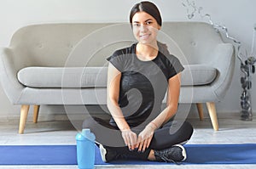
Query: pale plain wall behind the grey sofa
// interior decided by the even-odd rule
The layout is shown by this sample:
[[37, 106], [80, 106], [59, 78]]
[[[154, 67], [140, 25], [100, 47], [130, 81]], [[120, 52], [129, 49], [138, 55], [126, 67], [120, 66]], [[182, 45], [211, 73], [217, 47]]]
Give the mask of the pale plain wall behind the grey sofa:
[[[52, 22], [126, 22], [131, 7], [137, 0], [0, 0], [0, 47], [9, 46], [12, 34], [24, 25]], [[183, 0], [154, 0], [164, 21], [188, 20]], [[256, 23], [255, 0], [195, 0], [203, 14], [211, 14], [215, 23], [226, 25], [230, 35], [251, 49], [253, 25]], [[197, 15], [192, 21], [200, 20]], [[256, 48], [256, 45], [255, 45]], [[256, 54], [256, 53], [254, 53]], [[217, 104], [218, 113], [240, 111], [240, 68], [236, 70], [230, 90], [223, 102]], [[256, 76], [253, 76], [253, 103], [256, 103]], [[19, 106], [9, 103], [0, 86], [0, 117], [19, 115]], [[42, 111], [51, 114], [49, 107]], [[256, 112], [256, 106], [253, 105]]]

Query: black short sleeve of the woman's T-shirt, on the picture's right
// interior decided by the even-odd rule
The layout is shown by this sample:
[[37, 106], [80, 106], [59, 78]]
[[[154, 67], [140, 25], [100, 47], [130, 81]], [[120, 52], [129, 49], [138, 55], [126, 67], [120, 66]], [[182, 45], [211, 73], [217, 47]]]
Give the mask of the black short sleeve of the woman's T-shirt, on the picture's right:
[[179, 59], [177, 57], [171, 55], [169, 58], [170, 65], [169, 65], [169, 70], [168, 70], [168, 79], [171, 78], [172, 76], [176, 76], [179, 72], [184, 70], [183, 65], [180, 63]]

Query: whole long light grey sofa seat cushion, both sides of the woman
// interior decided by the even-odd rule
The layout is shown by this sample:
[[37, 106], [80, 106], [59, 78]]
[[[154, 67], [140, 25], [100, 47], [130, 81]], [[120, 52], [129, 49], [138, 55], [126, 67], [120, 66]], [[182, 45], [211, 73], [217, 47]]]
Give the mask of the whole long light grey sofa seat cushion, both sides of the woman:
[[[217, 70], [208, 65], [184, 65], [182, 86], [211, 83]], [[26, 67], [18, 79], [26, 87], [107, 87], [107, 67]]]

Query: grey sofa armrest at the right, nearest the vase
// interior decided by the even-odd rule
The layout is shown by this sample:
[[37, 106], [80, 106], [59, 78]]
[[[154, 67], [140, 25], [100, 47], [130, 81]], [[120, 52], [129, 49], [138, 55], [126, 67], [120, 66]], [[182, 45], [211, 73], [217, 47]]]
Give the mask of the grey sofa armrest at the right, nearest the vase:
[[234, 74], [235, 50], [231, 43], [220, 43], [212, 52], [210, 57], [214, 57], [211, 65], [217, 68], [218, 76], [212, 82], [213, 92], [218, 101], [224, 98]]

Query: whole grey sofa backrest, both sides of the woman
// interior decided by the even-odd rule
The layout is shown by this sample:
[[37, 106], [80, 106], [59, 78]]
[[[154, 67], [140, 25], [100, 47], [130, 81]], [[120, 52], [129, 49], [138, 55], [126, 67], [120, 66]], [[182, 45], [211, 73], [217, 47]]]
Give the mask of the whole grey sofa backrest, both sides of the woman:
[[[159, 41], [166, 43], [170, 53], [177, 55], [184, 65], [209, 63], [211, 51], [222, 43], [212, 25], [200, 22], [165, 22], [159, 32]], [[15, 59], [18, 60], [17, 69], [65, 66], [75, 52], [86, 59], [75, 58], [73, 66], [102, 66], [114, 50], [132, 42], [136, 41], [129, 24], [42, 24], [20, 28], [13, 35], [9, 48], [18, 58]], [[79, 51], [73, 50], [78, 46]]]

